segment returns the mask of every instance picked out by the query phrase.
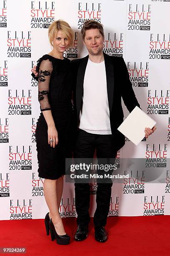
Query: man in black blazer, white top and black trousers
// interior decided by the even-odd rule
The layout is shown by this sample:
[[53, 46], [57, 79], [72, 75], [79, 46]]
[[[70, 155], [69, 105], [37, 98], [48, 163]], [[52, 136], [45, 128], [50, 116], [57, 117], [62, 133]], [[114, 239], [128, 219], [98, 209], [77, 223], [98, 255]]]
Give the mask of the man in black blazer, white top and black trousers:
[[[117, 130], [123, 122], [121, 97], [129, 112], [140, 105], [133, 92], [123, 58], [108, 56], [102, 51], [104, 42], [102, 24], [94, 20], [86, 21], [82, 26], [81, 35], [88, 55], [72, 61], [77, 124], [74, 158], [92, 159], [96, 149], [98, 159], [114, 159], [117, 150], [125, 144], [125, 137]], [[145, 137], [148, 138], [155, 129], [155, 127], [145, 128]], [[107, 232], [104, 227], [110, 207], [112, 182], [97, 183], [97, 185], [97, 207], [93, 218], [95, 240], [105, 242]], [[75, 183], [77, 212], [75, 241], [87, 238], [90, 222], [89, 206], [90, 185]]]

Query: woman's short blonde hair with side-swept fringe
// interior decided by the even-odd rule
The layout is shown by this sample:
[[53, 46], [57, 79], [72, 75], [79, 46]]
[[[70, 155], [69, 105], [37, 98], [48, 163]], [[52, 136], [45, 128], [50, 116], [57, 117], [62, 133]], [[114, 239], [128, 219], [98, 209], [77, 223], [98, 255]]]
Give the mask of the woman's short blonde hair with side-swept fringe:
[[73, 46], [74, 33], [70, 25], [64, 20], [55, 20], [48, 28], [48, 38], [50, 45], [53, 47], [52, 41], [55, 38], [58, 31], [61, 31], [69, 41], [68, 48]]

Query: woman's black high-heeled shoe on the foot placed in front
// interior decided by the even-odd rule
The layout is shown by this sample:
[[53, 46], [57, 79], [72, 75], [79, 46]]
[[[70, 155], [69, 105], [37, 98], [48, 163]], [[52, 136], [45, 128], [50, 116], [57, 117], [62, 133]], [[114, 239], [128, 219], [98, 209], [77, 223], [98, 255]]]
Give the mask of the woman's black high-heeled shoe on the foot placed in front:
[[63, 236], [59, 236], [55, 230], [55, 226], [52, 223], [52, 219], [50, 219], [49, 222], [49, 226], [50, 226], [50, 234], [51, 234], [51, 240], [54, 241], [54, 239], [56, 239], [56, 242], [58, 244], [69, 244], [70, 243], [70, 236], [68, 236], [67, 234], [63, 235]]

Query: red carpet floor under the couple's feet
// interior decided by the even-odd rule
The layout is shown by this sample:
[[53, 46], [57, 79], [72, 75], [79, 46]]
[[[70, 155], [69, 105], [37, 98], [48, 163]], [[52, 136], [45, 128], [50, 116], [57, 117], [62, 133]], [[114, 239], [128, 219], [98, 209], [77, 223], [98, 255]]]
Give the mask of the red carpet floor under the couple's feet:
[[[65, 218], [63, 223], [71, 235], [75, 218]], [[106, 229], [108, 241], [98, 243], [94, 240], [91, 220], [90, 234], [85, 241], [73, 241], [71, 236], [69, 245], [60, 246], [46, 236], [44, 220], [1, 220], [0, 247], [26, 247], [26, 255], [36, 256], [170, 256], [169, 215], [109, 217]]]

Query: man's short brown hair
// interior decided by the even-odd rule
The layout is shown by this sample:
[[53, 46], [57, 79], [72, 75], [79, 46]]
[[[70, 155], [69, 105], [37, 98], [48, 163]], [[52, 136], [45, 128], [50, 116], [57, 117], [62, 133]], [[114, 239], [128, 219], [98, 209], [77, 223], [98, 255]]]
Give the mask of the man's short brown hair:
[[85, 31], [89, 30], [91, 28], [98, 28], [102, 37], [103, 38], [105, 37], [104, 36], [104, 31], [103, 31], [103, 25], [101, 23], [99, 23], [96, 20], [86, 20], [85, 23], [82, 25], [82, 29], [81, 29], [81, 35], [82, 35], [82, 40], [83, 41], [85, 39]]

